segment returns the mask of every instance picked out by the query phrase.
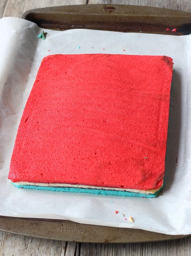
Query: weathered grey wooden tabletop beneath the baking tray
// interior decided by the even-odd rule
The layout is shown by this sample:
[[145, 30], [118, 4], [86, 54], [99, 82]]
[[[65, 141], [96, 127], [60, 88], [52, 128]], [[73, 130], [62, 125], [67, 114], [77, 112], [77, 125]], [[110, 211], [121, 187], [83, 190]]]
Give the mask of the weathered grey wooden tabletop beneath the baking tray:
[[[0, 0], [0, 17], [21, 17], [26, 10], [41, 7], [98, 3], [143, 5], [191, 12], [191, 0]], [[46, 240], [0, 231], [0, 255], [190, 256], [191, 236], [163, 242], [99, 244]]]

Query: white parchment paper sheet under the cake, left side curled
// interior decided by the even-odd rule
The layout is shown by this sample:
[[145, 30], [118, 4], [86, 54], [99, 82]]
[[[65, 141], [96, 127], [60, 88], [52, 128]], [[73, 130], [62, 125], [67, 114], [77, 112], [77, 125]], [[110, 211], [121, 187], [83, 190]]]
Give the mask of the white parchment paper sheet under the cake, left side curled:
[[[0, 20], [0, 215], [191, 234], [191, 36], [74, 29], [45, 30], [20, 18]], [[19, 121], [36, 73], [50, 54], [120, 53], [173, 58], [163, 196], [112, 197], [18, 189], [7, 180]], [[119, 211], [115, 214], [115, 211]], [[133, 223], [128, 222], [132, 216]]]

